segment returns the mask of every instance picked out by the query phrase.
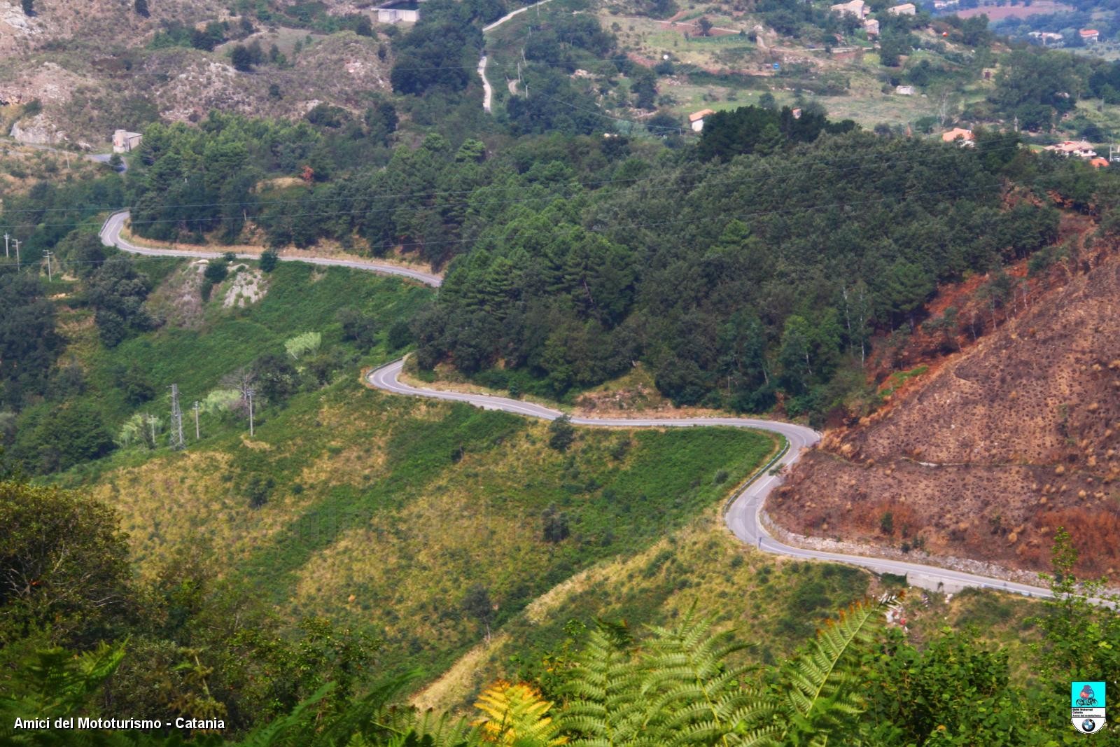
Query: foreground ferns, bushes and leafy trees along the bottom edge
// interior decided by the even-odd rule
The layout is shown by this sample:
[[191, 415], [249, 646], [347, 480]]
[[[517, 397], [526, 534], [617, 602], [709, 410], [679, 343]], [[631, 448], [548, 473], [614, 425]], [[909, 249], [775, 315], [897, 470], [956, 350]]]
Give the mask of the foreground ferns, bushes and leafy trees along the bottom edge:
[[[228, 586], [221, 613], [200, 600], [202, 587], [169, 582], [170, 575], [130, 589], [111, 512], [50, 488], [7, 482], [0, 491], [15, 540], [0, 558], [8, 644], [0, 734], [9, 744], [74, 744], [76, 736], [181, 744], [189, 735], [215, 745], [1061, 745], [1075, 737], [1065, 716], [1068, 682], [1109, 679], [1118, 665], [1120, 618], [1090, 601], [1100, 586], [1071, 575], [1076, 552], [1058, 532], [1057, 597], [1037, 618], [1042, 637], [1025, 685], [1011, 684], [1006, 654], [968, 633], [944, 628], [918, 647], [897, 628], [884, 631], [883, 614], [895, 604], [887, 598], [853, 605], [788, 661], [762, 667], [738, 657], [746, 641], [694, 610], [645, 633], [600, 622], [575, 632], [571, 648], [535, 680], [483, 692], [475, 718], [440, 718], [394, 707], [408, 678], [379, 680], [375, 642], [325, 622], [308, 622], [295, 641], [278, 637]], [[142, 611], [122, 604], [137, 591]], [[103, 642], [130, 627], [139, 639]], [[192, 636], [179, 652], [187, 661], [144, 666], [146, 655], [175, 650], [152, 639], [159, 634]], [[72, 651], [87, 651], [50, 647], [60, 636]], [[361, 684], [371, 681], [380, 683]], [[171, 689], [184, 692], [179, 708], [188, 703], [202, 719], [186, 727], [193, 734], [13, 728], [17, 717], [133, 713], [128, 699]], [[240, 709], [225, 710], [223, 697]], [[260, 726], [227, 743], [220, 732], [239, 715]], [[270, 715], [277, 718], [261, 725]], [[1109, 734], [1101, 736], [1112, 744]]]

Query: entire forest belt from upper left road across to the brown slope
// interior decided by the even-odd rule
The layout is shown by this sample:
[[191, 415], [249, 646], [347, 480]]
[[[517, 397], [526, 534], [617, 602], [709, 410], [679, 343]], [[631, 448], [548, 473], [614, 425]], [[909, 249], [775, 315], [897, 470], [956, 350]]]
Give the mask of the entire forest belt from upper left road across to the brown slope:
[[[414, 325], [421, 367], [497, 366], [486, 382], [564, 398], [643, 361], [679, 404], [759, 412], [781, 396], [822, 417], [874, 408], [859, 373], [870, 338], [905, 336], [939, 283], [1056, 239], [1047, 189], [1111, 183], [995, 131], [961, 149], [846, 134], [812, 111], [741, 112], [656, 161], [626, 139], [491, 156], [431, 134], [346, 179], [333, 134], [214, 118], [153, 130], [127, 185], [141, 235], [234, 241], [251, 222], [276, 246], [361, 241], [450, 262]], [[356, 136], [384, 127], [367, 121]], [[346, 142], [352, 167], [379, 152]], [[300, 158], [308, 184], [256, 188]]]

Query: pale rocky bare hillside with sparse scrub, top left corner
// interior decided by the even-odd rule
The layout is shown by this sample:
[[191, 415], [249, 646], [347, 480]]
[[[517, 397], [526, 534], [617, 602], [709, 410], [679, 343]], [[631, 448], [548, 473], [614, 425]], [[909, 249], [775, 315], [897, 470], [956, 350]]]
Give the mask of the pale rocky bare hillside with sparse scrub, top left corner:
[[[301, 116], [320, 101], [361, 111], [366, 92], [389, 90], [392, 58], [386, 37], [377, 35], [324, 36], [254, 20], [252, 35], [235, 34], [212, 53], [148, 48], [167, 22], [228, 21], [236, 29], [241, 18], [228, 4], [165, 0], [150, 3], [151, 17], [141, 18], [131, 0], [36, 0], [36, 15], [27, 17], [19, 2], [0, 0], [0, 134], [101, 148], [113, 130], [139, 130], [157, 118], [197, 121], [211, 109]], [[326, 6], [335, 15], [357, 10], [340, 0]], [[293, 40], [304, 45], [298, 54]], [[265, 50], [278, 45], [289, 64], [235, 71], [228, 47], [253, 41]], [[43, 112], [26, 115], [18, 105], [32, 100]]]

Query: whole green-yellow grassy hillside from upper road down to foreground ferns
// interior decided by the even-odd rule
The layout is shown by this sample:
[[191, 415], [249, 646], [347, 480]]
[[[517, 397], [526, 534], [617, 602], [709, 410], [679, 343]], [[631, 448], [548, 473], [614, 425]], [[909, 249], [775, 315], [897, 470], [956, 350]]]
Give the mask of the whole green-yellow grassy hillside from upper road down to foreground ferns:
[[[771, 662], [879, 588], [865, 571], [757, 553], [726, 531], [719, 508], [773, 452], [767, 435], [577, 429], [557, 450], [544, 422], [363, 384], [364, 366], [401, 354], [384, 330], [411, 318], [429, 289], [284, 263], [244, 308], [223, 304], [233, 279], [185, 305], [196, 269], [138, 267], [158, 284], [150, 308], [169, 323], [108, 349], [87, 311], [64, 308], [63, 364], [83, 366], [81, 396], [114, 422], [165, 413], [164, 391], [178, 383], [188, 448], [122, 448], [54, 479], [116, 507], [140, 573], [193, 553], [292, 625], [324, 616], [380, 637], [379, 667], [423, 672], [420, 703], [455, 708], [495, 676], [540, 674], [596, 618], [662, 624], [693, 605], [757, 642], [749, 661]], [[343, 307], [375, 318], [372, 346], [343, 339]], [[243, 413], [211, 412], [194, 439], [194, 399], [306, 332], [342, 356], [332, 381], [265, 404], [253, 437]], [[130, 367], [156, 399], [128, 403], [116, 379]], [[467, 604], [480, 591], [488, 611]], [[953, 615], [1011, 625], [1011, 603], [990, 595], [931, 604], [931, 631]]]

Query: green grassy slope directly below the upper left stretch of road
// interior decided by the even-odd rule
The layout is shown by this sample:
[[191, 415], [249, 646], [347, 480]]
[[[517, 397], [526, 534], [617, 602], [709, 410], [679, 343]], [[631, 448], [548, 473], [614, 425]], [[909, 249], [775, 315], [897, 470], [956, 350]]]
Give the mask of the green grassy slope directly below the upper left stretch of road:
[[[211, 392], [227, 387], [223, 380], [263, 354], [287, 355], [284, 340], [314, 332], [321, 335], [319, 349], [330, 355], [335, 375], [356, 373], [361, 366], [379, 365], [398, 355], [388, 342], [388, 328], [394, 321], [408, 321], [421, 305], [432, 298], [429, 288], [395, 278], [342, 268], [312, 268], [283, 262], [269, 274], [260, 274], [252, 263], [237, 263], [240, 272], [214, 287], [208, 301], [199, 298], [198, 267], [185, 260], [136, 258], [136, 268], [147, 274], [153, 289], [146, 308], [165, 324], [157, 330], [125, 339], [113, 348], [101, 344], [93, 312], [80, 304], [60, 305], [59, 330], [66, 349], [59, 366], [82, 371], [83, 386], [68, 399], [99, 412], [112, 436], [132, 415], [160, 419], [159, 441], [166, 445], [170, 413], [170, 385], [178, 384], [185, 413], [188, 442], [194, 441], [192, 405]], [[226, 307], [224, 301], [239, 273], [255, 272], [263, 296], [253, 304]], [[52, 291], [73, 292], [74, 283], [56, 281]], [[65, 298], [65, 296], [64, 296]], [[360, 346], [343, 339], [338, 311], [351, 307], [371, 317], [377, 330], [374, 344]], [[152, 396], [137, 402], [122, 380], [136, 375]], [[263, 422], [282, 405], [261, 401], [258, 422]], [[37, 415], [47, 415], [49, 402], [28, 410], [28, 427]], [[203, 412], [199, 418], [203, 443], [209, 439], [248, 430], [248, 422], [230, 412]], [[189, 427], [186, 427], [189, 426]], [[148, 459], [147, 449], [120, 449], [106, 459], [82, 465], [58, 476], [64, 485], [87, 482], [92, 476], [118, 464]]]

